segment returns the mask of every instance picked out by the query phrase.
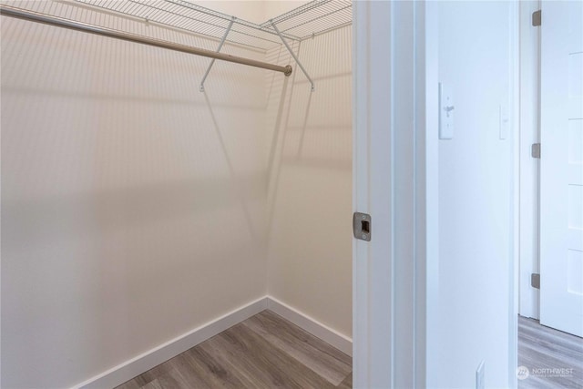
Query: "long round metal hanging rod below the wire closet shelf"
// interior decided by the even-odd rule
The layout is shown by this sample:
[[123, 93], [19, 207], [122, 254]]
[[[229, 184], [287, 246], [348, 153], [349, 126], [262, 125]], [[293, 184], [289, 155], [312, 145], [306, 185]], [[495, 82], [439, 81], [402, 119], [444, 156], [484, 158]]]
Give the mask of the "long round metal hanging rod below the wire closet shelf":
[[281, 67], [278, 65], [268, 64], [266, 62], [256, 61], [254, 59], [243, 58], [241, 56], [230, 56], [229, 54], [217, 53], [215, 51], [205, 50], [203, 48], [179, 45], [159, 39], [137, 36], [134, 34], [124, 33], [111, 28], [89, 25], [87, 23], [74, 22], [58, 16], [40, 14], [34, 11], [25, 11], [10, 5], [0, 5], [0, 15], [12, 16], [18, 19], [29, 20], [32, 22], [43, 23], [49, 26], [65, 27], [72, 30], [83, 31], [86, 33], [96, 34], [98, 36], [109, 36], [129, 42], [141, 43], [149, 46], [168, 48], [170, 50], [180, 51], [182, 53], [194, 54], [195, 56], [208, 56], [210, 58], [220, 59], [222, 61], [234, 62], [236, 64], [248, 65], [250, 67], [261, 67], [263, 69], [274, 70], [283, 73], [286, 77], [292, 74], [292, 66]]

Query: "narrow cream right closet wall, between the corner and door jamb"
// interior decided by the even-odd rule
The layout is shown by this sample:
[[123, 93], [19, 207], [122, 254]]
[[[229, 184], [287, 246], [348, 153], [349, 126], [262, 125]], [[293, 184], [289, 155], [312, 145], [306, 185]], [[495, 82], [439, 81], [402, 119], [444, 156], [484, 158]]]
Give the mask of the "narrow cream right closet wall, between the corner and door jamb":
[[[268, 292], [352, 337], [352, 27], [302, 42], [268, 107]], [[287, 61], [275, 50], [273, 60]], [[285, 62], [289, 63], [289, 62]], [[281, 96], [285, 96], [280, 107]], [[278, 112], [281, 111], [281, 114]]]

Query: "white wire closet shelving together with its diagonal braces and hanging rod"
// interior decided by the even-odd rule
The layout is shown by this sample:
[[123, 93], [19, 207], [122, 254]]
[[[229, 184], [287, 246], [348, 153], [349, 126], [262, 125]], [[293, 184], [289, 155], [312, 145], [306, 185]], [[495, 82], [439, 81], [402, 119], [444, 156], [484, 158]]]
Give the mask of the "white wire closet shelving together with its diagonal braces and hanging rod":
[[[312, 91], [312, 78], [287, 41], [302, 41], [352, 23], [352, 3], [346, 0], [313, 0], [261, 25], [186, 0], [0, 0], [0, 5], [3, 5], [2, 15], [268, 68], [289, 76], [292, 73], [290, 66], [281, 67], [248, 58], [218, 54], [211, 51], [210, 47], [184, 46], [180, 42], [172, 42], [171, 39], [159, 40], [156, 36], [148, 36], [151, 31], [147, 30], [150, 24], [169, 26], [175, 31], [216, 39], [220, 41], [220, 46], [224, 42], [230, 42], [264, 51], [284, 45], [312, 84]], [[123, 15], [126, 18], [112, 18], [107, 15]], [[118, 23], [128, 19], [133, 21]], [[210, 67], [213, 63], [214, 59]], [[201, 91], [204, 91], [204, 79], [208, 76], [210, 67], [200, 83]]]

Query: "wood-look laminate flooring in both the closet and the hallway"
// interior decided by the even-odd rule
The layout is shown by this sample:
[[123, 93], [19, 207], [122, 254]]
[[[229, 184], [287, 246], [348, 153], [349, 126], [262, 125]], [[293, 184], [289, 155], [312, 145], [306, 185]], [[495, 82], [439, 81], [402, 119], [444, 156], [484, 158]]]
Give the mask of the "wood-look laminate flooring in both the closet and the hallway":
[[[583, 388], [583, 338], [519, 317], [518, 365], [519, 389]], [[263, 311], [117, 389], [350, 389], [352, 377], [351, 357]]]

